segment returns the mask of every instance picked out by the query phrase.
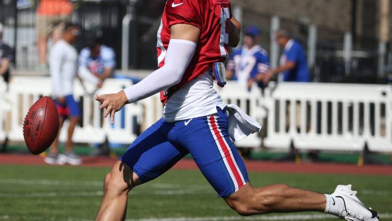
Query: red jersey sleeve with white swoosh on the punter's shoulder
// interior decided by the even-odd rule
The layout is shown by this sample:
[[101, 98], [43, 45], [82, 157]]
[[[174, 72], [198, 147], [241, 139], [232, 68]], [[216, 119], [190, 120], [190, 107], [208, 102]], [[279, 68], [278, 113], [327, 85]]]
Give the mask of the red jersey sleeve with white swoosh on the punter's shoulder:
[[190, 24], [201, 29], [201, 12], [197, 0], [168, 0], [165, 13], [169, 27]]

